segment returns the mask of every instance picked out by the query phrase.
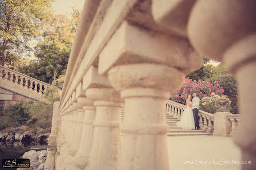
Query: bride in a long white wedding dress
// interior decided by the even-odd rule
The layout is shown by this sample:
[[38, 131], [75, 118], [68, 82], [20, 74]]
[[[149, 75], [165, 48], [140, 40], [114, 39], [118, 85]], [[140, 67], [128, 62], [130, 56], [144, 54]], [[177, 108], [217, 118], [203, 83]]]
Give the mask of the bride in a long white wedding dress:
[[183, 114], [181, 115], [180, 121], [176, 122], [176, 125], [183, 129], [195, 130], [195, 121], [193, 116], [192, 108], [190, 107], [193, 102], [191, 102], [191, 95], [188, 95], [187, 98], [187, 108], [184, 109]]

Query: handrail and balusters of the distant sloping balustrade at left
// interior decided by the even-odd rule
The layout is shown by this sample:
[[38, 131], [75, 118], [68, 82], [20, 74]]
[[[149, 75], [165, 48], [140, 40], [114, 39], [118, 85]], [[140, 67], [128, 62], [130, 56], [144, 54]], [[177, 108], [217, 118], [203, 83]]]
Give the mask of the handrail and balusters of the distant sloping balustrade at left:
[[45, 90], [51, 86], [5, 66], [0, 66], [0, 78], [2, 82], [13, 84], [13, 89], [25, 90], [23, 91], [24, 93], [31, 92], [30, 94], [36, 95], [37, 97], [42, 96]]

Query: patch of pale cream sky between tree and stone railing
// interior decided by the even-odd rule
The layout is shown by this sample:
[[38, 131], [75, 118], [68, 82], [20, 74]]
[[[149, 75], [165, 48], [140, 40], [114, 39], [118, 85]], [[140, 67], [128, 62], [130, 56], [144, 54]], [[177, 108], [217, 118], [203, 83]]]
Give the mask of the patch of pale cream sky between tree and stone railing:
[[56, 14], [69, 14], [72, 12], [72, 7], [82, 10], [85, 0], [55, 0], [53, 8]]

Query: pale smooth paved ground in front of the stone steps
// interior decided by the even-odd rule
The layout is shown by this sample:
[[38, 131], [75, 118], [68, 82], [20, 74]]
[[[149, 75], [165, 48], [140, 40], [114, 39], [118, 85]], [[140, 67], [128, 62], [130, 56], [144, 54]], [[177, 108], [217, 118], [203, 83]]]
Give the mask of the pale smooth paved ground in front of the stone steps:
[[[231, 162], [241, 161], [240, 149], [231, 137], [169, 136], [167, 140], [170, 170], [241, 169], [240, 164]], [[184, 161], [193, 161], [194, 164], [185, 164]]]

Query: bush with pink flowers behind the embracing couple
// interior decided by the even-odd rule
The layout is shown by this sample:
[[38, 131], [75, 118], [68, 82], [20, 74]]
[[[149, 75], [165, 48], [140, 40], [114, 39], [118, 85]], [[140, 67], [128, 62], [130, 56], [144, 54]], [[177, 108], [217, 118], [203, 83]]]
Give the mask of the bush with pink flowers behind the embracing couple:
[[203, 97], [211, 97], [212, 93], [222, 96], [224, 90], [218, 84], [218, 81], [215, 81], [214, 84], [211, 84], [209, 81], [192, 81], [189, 79], [189, 77], [187, 77], [182, 88], [170, 94], [170, 100], [185, 104], [185, 101], [187, 100], [187, 94], [191, 94], [192, 96], [192, 93], [194, 92], [201, 100]]

